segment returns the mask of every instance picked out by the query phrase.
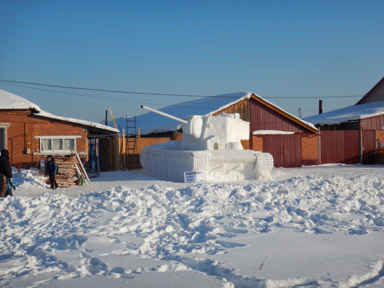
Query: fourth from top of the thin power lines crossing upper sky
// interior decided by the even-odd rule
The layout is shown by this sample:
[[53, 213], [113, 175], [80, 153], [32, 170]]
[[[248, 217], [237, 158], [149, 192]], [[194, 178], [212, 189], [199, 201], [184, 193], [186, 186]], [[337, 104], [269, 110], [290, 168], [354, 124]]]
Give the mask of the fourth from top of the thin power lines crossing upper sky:
[[245, 55], [245, 54], [227, 54], [227, 53], [205, 53], [205, 52], [149, 49], [149, 48], [137, 48], [137, 47], [130, 47], [130, 46], [116, 46], [116, 45], [106, 45], [106, 44], [96, 44], [96, 43], [85, 43], [85, 42], [75, 42], [75, 41], [57, 40], [57, 39], [49, 39], [49, 38], [39, 38], [39, 37], [22, 36], [22, 35], [14, 35], [14, 34], [4, 34], [4, 33], [0, 33], [0, 35], [20, 37], [20, 38], [29, 38], [29, 39], [36, 39], [36, 40], [46, 40], [46, 41], [61, 42], [61, 43], [93, 45], [93, 46], [145, 50], [145, 51], [190, 53], [190, 54], [199, 54], [199, 55], [242, 56], [242, 57], [258, 57], [258, 58], [314, 59], [314, 60], [382, 60], [382, 59], [384, 59], [384, 58], [293, 57], [293, 56], [264, 56], [264, 55]]

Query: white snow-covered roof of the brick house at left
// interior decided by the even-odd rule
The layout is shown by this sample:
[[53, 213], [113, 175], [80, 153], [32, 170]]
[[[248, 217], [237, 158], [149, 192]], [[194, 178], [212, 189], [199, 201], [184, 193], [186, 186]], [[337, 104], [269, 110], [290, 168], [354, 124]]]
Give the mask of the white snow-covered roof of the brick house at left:
[[86, 126], [91, 126], [99, 129], [104, 129], [108, 131], [113, 131], [113, 132], [119, 132], [119, 130], [105, 126], [103, 124], [91, 122], [91, 121], [85, 121], [85, 120], [80, 120], [80, 119], [75, 119], [75, 118], [67, 118], [67, 117], [61, 117], [61, 116], [56, 116], [53, 114], [50, 114], [48, 112], [45, 112], [40, 109], [39, 106], [36, 104], [33, 104], [32, 102], [17, 96], [15, 94], [9, 93], [4, 90], [0, 90], [0, 109], [4, 110], [15, 110], [15, 109], [31, 109], [32, 113], [35, 114], [36, 116], [41, 116], [41, 117], [46, 117], [46, 118], [51, 118], [51, 119], [57, 119], [61, 121], [66, 121], [66, 122], [72, 122], [76, 124], [82, 124]]

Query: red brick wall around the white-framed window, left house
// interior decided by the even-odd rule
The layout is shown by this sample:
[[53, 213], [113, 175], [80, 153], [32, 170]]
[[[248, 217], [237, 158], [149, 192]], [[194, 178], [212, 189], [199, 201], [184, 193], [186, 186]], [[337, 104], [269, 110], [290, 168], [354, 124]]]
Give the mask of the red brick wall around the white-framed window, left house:
[[[27, 123], [28, 122], [28, 123]], [[33, 123], [30, 123], [33, 122]], [[76, 138], [76, 150], [78, 153], [87, 152], [88, 154], [88, 139], [86, 137], [86, 129], [61, 124], [53, 121], [33, 118], [31, 111], [14, 110], [0, 111], [0, 123], [10, 124], [7, 129], [6, 148], [9, 151], [10, 162], [33, 162], [45, 159], [44, 155], [38, 155], [36, 160], [37, 149], [40, 149], [40, 141], [37, 141], [37, 136], [81, 136]], [[31, 142], [30, 153], [26, 154], [27, 136]]]

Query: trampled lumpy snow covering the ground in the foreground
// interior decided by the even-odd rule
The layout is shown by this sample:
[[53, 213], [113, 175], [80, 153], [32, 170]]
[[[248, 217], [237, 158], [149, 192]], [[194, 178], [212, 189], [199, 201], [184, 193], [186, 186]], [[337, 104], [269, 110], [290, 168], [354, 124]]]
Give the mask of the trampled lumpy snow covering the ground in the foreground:
[[384, 166], [174, 183], [143, 170], [0, 199], [0, 287], [384, 287]]

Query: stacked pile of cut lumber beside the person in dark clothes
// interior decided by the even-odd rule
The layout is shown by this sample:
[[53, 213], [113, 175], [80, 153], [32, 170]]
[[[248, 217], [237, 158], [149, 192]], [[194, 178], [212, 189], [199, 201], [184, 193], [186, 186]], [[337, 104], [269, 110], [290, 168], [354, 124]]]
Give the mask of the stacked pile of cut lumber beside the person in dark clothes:
[[[72, 156], [56, 156], [56, 164], [59, 167], [59, 172], [55, 177], [55, 180], [59, 187], [73, 187], [76, 184], [73, 182], [72, 177], [76, 175], [77, 161]], [[49, 179], [46, 180], [47, 184], [50, 184]]]

